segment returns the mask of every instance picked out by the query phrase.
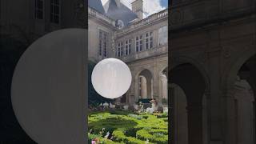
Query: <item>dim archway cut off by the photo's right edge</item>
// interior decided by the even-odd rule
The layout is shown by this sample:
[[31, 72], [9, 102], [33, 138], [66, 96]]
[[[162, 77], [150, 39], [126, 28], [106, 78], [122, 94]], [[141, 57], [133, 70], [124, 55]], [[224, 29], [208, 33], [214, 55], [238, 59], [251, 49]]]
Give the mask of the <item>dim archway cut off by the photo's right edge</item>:
[[[224, 71], [223, 77], [222, 77], [222, 86], [223, 86], [223, 96], [224, 97], [230, 97], [229, 101], [226, 101], [226, 118], [227, 121], [231, 118], [233, 118], [232, 115], [237, 115], [235, 116], [235, 121], [233, 123], [226, 122], [230, 126], [226, 127], [226, 133], [230, 134], [230, 139], [228, 141], [230, 142], [242, 142], [242, 143], [254, 143], [255, 142], [255, 133], [252, 134], [251, 130], [246, 129], [246, 127], [253, 127], [254, 130], [256, 128], [256, 123], [255, 120], [252, 122], [254, 126], [248, 126], [250, 121], [248, 121], [248, 118], [251, 117], [251, 114], [249, 115], [243, 115], [242, 117], [238, 117], [241, 114], [248, 114], [250, 110], [254, 111], [254, 117], [255, 117], [255, 106], [252, 109], [246, 110], [246, 113], [242, 112], [242, 109], [245, 109], [246, 106], [250, 106], [250, 102], [247, 103], [246, 105], [242, 106], [241, 102], [244, 103], [246, 102], [246, 93], [248, 94], [248, 91], [245, 91], [242, 93], [240, 89], [241, 86], [238, 86], [238, 82], [246, 82], [247, 85], [250, 85], [251, 90], [252, 90], [252, 95], [254, 95], [254, 100], [256, 98], [255, 96], [255, 84], [256, 84], [256, 73], [254, 69], [254, 66], [248, 65], [250, 62], [255, 62], [256, 61], [256, 49], [254, 46], [249, 47], [248, 49], [244, 50], [242, 53], [235, 55], [232, 61], [230, 62], [230, 66], [226, 66], [226, 69]], [[239, 93], [239, 97], [238, 97]], [[241, 96], [242, 95], [242, 96]], [[251, 101], [252, 102], [252, 101]], [[240, 107], [239, 107], [240, 106]], [[239, 114], [238, 114], [239, 113]], [[238, 130], [238, 125], [239, 119], [241, 118], [246, 118], [243, 119], [241, 122], [242, 126], [239, 126]], [[232, 128], [232, 126], [234, 128]], [[240, 130], [243, 130], [243, 134], [238, 134]], [[248, 135], [253, 136], [252, 138], [248, 138]], [[246, 141], [246, 142], [245, 142]]]

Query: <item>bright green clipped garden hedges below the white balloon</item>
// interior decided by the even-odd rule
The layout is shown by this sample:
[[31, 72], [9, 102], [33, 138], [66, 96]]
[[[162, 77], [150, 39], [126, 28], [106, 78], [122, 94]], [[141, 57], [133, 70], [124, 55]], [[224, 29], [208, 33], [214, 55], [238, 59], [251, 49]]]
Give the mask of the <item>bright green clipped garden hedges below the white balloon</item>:
[[[107, 144], [145, 144], [146, 140], [157, 144], [168, 143], [166, 114], [133, 114], [120, 110], [93, 112], [89, 115], [88, 123], [90, 141], [100, 138], [101, 142]], [[112, 141], [104, 138], [107, 132], [110, 132], [110, 137], [113, 134]]]

